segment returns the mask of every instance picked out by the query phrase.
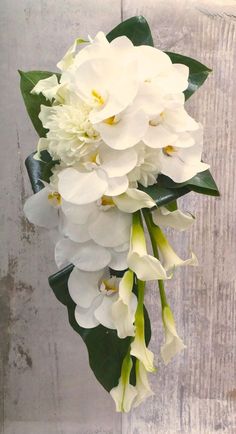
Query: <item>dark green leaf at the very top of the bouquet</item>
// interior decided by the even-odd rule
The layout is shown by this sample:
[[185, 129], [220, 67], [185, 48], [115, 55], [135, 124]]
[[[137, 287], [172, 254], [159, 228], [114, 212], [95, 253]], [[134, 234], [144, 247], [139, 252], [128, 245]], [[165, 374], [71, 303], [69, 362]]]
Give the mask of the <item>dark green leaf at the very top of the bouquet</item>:
[[151, 45], [153, 39], [149, 25], [144, 17], [136, 16], [118, 24], [111, 32], [107, 34], [107, 39], [111, 42], [118, 36], [127, 36], [134, 45]]

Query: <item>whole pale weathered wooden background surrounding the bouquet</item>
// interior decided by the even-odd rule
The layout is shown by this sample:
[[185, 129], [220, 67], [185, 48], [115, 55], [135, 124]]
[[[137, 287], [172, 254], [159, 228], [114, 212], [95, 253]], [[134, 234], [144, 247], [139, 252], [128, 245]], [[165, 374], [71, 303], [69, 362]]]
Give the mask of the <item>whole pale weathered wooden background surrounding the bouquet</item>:
[[[2, 433], [236, 432], [236, 7], [232, 3], [1, 1]], [[191, 194], [181, 200], [197, 219], [187, 233], [170, 237], [182, 257], [192, 249], [200, 267], [179, 270], [167, 292], [187, 349], [167, 367], [159, 361], [160, 305], [156, 289], [150, 287], [151, 348], [159, 368], [151, 378], [156, 395], [130, 415], [120, 416], [90, 372], [84, 345], [48, 287], [47, 276], [55, 270], [48, 234], [28, 224], [22, 214], [30, 194], [23, 161], [37, 137], [23, 107], [16, 70], [53, 70], [76, 36], [108, 31], [122, 17], [136, 14], [148, 19], [156, 46], [193, 56], [214, 70], [188, 107], [204, 124], [204, 157], [222, 196]]]

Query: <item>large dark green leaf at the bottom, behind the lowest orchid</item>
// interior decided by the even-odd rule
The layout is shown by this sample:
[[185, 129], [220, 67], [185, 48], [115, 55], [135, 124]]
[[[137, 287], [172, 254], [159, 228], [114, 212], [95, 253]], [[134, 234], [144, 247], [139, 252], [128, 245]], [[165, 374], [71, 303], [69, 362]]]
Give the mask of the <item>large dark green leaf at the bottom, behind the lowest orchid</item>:
[[[57, 299], [67, 307], [71, 327], [78, 333], [87, 346], [89, 364], [97, 380], [110, 391], [118, 384], [122, 361], [128, 351], [132, 338], [119, 339], [115, 330], [102, 325], [93, 329], [84, 329], [75, 320], [75, 303], [71, 299], [67, 281], [73, 266], [68, 266], [49, 277], [49, 284]], [[86, 290], [86, 288], [85, 288]], [[145, 310], [146, 342], [150, 341], [151, 328], [148, 313]]]

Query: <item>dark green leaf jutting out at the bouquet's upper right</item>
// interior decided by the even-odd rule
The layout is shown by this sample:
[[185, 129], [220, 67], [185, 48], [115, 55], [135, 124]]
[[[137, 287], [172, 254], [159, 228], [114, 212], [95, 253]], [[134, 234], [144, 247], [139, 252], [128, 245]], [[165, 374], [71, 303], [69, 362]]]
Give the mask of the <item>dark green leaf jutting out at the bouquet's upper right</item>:
[[187, 100], [204, 83], [212, 70], [191, 57], [182, 56], [182, 54], [171, 53], [168, 51], [166, 51], [166, 54], [168, 54], [172, 63], [182, 63], [189, 67], [189, 85], [188, 89], [184, 92], [185, 100]]

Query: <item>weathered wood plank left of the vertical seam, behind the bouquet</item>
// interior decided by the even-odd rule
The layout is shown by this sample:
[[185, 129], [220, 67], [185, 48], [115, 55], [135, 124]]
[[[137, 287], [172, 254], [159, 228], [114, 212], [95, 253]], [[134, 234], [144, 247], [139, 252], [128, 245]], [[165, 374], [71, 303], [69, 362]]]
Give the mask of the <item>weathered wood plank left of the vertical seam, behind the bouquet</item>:
[[37, 137], [17, 69], [54, 70], [75, 37], [120, 21], [120, 1], [3, 0], [0, 10], [2, 432], [119, 433], [121, 418], [49, 289], [47, 276], [56, 271], [52, 242], [23, 217], [31, 194], [24, 159]]

